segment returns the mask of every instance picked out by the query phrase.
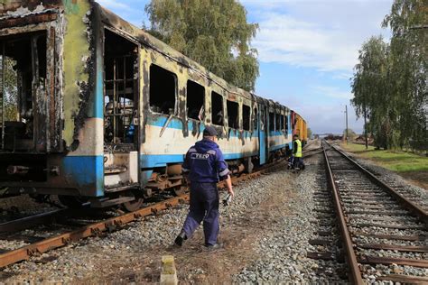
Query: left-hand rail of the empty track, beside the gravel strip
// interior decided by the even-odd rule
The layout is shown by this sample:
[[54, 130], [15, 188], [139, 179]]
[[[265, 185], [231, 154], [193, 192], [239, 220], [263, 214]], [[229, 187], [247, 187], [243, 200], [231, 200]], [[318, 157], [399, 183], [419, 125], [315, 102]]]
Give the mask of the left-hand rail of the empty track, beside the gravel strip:
[[361, 278], [361, 271], [359, 271], [357, 256], [354, 251], [354, 244], [352, 243], [352, 239], [350, 237], [350, 233], [348, 231], [348, 225], [344, 215], [344, 209], [340, 203], [340, 194], [336, 185], [336, 181], [334, 180], [333, 173], [331, 171], [329, 157], [327, 156], [327, 152], [325, 152], [324, 145], [322, 145], [322, 150], [324, 152], [324, 161], [326, 164], [326, 176], [329, 180], [329, 184], [332, 190], [333, 198], [334, 198], [334, 207], [336, 209], [336, 214], [339, 219], [340, 225], [340, 233], [343, 238], [343, 244], [348, 257], [349, 264], [349, 279], [352, 284], [362, 285], [364, 284]]

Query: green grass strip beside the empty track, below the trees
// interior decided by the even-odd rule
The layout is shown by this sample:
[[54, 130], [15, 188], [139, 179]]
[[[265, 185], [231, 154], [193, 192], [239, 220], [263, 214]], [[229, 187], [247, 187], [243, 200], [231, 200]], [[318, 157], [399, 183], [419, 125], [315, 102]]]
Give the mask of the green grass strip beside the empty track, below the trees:
[[428, 157], [423, 157], [410, 152], [393, 152], [375, 150], [369, 146], [356, 143], [341, 143], [340, 146], [348, 151], [358, 154], [358, 156], [377, 162], [388, 170], [396, 172], [428, 171]]

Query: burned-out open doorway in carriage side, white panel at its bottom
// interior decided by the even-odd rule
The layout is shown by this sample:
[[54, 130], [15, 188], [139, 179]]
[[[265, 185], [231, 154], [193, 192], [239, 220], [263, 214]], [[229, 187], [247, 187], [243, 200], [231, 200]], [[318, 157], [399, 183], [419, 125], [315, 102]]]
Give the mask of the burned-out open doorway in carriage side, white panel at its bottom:
[[106, 191], [138, 185], [138, 44], [105, 30], [104, 182]]

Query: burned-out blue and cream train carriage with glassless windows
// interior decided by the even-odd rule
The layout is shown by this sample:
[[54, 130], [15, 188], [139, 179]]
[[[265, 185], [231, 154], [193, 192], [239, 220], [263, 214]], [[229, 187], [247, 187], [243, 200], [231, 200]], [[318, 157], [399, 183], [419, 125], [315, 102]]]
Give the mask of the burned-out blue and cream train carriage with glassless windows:
[[89, 0], [0, 4], [0, 187], [139, 207], [180, 190], [214, 125], [233, 172], [291, 147], [291, 112], [209, 73]]

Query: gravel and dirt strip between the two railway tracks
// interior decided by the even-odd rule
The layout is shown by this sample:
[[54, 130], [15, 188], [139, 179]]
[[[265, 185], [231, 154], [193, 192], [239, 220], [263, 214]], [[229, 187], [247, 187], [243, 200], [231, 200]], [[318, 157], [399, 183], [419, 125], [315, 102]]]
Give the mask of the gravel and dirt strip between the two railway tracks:
[[[237, 196], [232, 204], [220, 206], [219, 241], [224, 247], [218, 251], [205, 249], [201, 226], [181, 248], [172, 246], [188, 213], [188, 206], [182, 205], [128, 224], [114, 233], [88, 238], [8, 266], [0, 271], [0, 284], [158, 282], [161, 257], [166, 254], [174, 256], [178, 278], [185, 283], [346, 283], [344, 263], [306, 257], [308, 252], [339, 252], [339, 249], [334, 244], [309, 244], [318, 237], [316, 232], [330, 232], [333, 238], [337, 228], [329, 225], [330, 218], [322, 218], [327, 214], [315, 211], [330, 209], [326, 201], [313, 198], [314, 193], [326, 187], [322, 156], [314, 155], [305, 162], [307, 167], [299, 175], [284, 166], [284, 170], [251, 179], [235, 188]], [[222, 199], [226, 193], [220, 196]], [[372, 228], [366, 230], [370, 232]], [[376, 228], [376, 232], [381, 234], [386, 230]], [[409, 234], [420, 233], [409, 231]], [[358, 239], [360, 243], [375, 241]], [[426, 255], [410, 256], [426, 258]], [[364, 268], [366, 279], [374, 282], [377, 276], [388, 272], [419, 276], [428, 273], [405, 266], [364, 265]]]

